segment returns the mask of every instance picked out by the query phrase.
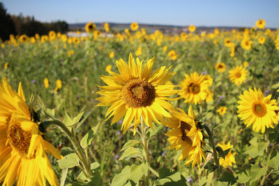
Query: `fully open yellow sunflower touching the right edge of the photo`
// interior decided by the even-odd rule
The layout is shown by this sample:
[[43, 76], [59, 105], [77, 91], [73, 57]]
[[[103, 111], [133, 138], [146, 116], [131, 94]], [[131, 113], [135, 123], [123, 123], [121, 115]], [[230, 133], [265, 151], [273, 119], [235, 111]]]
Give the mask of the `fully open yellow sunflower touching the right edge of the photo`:
[[278, 124], [276, 110], [279, 107], [276, 105], [276, 100], [271, 100], [271, 95], [264, 96], [261, 89], [254, 91], [250, 88], [249, 91], [244, 91], [243, 95], [239, 96], [239, 118], [243, 120], [246, 127], [252, 125], [252, 130], [262, 133], [266, 127], [273, 128], [273, 123]]

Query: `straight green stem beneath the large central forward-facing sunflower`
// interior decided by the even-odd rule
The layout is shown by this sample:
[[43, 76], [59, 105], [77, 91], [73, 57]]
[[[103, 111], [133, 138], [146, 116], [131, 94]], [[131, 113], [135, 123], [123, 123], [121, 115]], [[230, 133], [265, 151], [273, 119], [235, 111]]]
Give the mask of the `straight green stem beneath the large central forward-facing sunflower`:
[[149, 148], [148, 148], [148, 144], [146, 141], [146, 129], [145, 129], [145, 124], [144, 124], [144, 119], [142, 118], [142, 116], [140, 116], [140, 124], [141, 124], [141, 137], [142, 137], [142, 146], [144, 147], [144, 162], [147, 163], [148, 169], [147, 169], [147, 173], [144, 176], [144, 185], [149, 185]]

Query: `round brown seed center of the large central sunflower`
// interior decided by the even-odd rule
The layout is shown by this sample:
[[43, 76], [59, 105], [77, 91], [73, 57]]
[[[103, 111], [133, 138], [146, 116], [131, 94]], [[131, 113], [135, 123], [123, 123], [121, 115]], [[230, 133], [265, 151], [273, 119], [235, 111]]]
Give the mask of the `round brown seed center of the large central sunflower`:
[[132, 79], [123, 86], [122, 98], [129, 107], [147, 107], [156, 98], [155, 87], [142, 79]]

